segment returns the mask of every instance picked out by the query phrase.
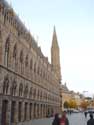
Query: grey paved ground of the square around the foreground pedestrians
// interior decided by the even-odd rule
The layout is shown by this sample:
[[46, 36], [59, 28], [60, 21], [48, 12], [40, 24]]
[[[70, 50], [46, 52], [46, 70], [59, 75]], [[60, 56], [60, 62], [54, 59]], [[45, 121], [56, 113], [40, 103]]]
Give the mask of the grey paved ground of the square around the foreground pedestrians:
[[[87, 120], [89, 119], [89, 115], [85, 118], [83, 113], [73, 113], [68, 115], [69, 125], [87, 125]], [[45, 118], [32, 120], [29, 123], [19, 124], [19, 125], [52, 125], [53, 118]]]

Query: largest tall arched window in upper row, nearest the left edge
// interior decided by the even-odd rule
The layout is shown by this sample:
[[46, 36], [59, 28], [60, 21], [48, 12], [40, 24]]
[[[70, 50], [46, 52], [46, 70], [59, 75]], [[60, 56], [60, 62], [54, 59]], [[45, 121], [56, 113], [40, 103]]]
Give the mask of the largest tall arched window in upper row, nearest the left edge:
[[5, 65], [8, 67], [8, 61], [9, 61], [9, 46], [10, 46], [10, 35], [7, 37], [5, 42]]

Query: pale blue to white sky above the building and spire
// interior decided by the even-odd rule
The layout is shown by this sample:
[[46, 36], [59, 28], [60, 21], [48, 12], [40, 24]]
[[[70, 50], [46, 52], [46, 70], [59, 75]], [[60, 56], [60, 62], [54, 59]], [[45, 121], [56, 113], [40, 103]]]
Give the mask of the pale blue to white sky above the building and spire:
[[62, 83], [94, 93], [94, 0], [7, 0], [49, 57], [53, 26], [60, 47]]

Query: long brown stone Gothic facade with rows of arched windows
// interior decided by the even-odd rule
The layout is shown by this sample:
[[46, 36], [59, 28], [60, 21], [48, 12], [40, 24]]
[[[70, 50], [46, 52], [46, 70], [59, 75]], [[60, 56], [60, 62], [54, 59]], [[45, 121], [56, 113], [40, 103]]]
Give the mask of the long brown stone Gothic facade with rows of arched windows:
[[0, 124], [17, 125], [59, 111], [60, 76], [13, 9], [1, 0]]

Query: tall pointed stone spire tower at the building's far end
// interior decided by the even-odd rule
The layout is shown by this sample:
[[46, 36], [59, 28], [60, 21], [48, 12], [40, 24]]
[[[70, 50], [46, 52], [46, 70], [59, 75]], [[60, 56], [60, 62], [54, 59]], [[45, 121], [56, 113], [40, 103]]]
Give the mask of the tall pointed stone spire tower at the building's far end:
[[56, 30], [54, 26], [53, 38], [52, 38], [52, 47], [51, 47], [51, 64], [52, 70], [56, 73], [56, 76], [61, 81], [61, 71], [60, 71], [60, 55], [59, 55], [59, 46], [56, 35]]

